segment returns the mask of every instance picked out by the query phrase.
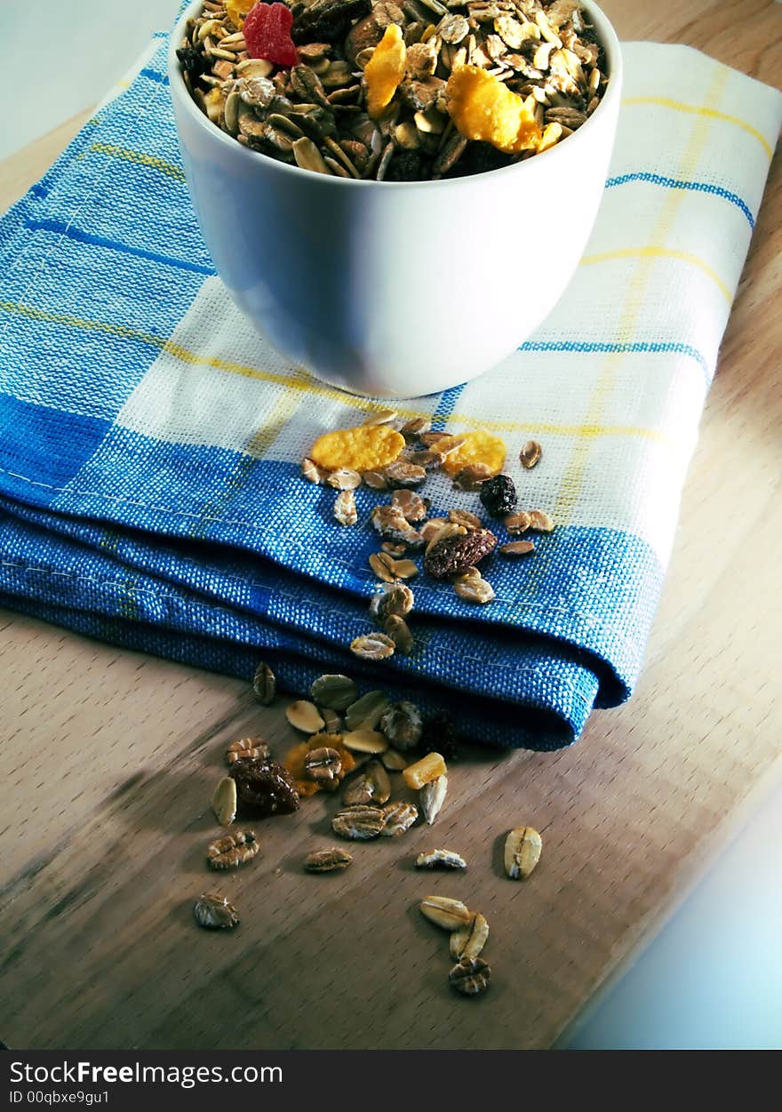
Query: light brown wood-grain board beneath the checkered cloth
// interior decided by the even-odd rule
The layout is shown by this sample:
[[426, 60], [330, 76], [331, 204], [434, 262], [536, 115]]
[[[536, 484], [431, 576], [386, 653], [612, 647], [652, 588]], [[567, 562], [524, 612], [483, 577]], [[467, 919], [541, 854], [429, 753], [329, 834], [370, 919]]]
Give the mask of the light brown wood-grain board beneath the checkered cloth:
[[[697, 46], [771, 83], [782, 9], [761, 0], [603, 0], [621, 38]], [[0, 207], [78, 129], [10, 159]], [[280, 751], [281, 707], [235, 679], [119, 652], [3, 613], [0, 623], [0, 1039], [67, 1048], [532, 1048], [551, 1045], [654, 931], [780, 770], [779, 360], [782, 182], [772, 167], [634, 698], [556, 754], [454, 765], [437, 825], [357, 844], [354, 865], [303, 872], [331, 844], [335, 801], [257, 826], [256, 861], [210, 874], [209, 811], [226, 744]], [[502, 872], [504, 833], [544, 837], [537, 872]], [[444, 845], [464, 876], [423, 876]], [[241, 925], [199, 931], [220, 888]], [[446, 985], [428, 892], [488, 917], [494, 981]]]

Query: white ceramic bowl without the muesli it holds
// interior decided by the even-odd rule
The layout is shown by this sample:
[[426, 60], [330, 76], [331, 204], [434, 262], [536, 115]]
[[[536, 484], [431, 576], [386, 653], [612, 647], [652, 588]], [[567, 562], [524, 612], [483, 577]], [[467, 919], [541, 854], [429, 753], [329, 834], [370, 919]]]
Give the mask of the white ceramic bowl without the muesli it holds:
[[523, 342], [567, 286], [605, 185], [622, 57], [600, 8], [584, 2], [610, 80], [574, 135], [487, 173], [377, 182], [287, 166], [211, 123], [176, 57], [200, 7], [169, 49], [185, 172], [217, 271], [268, 341], [327, 383], [383, 397], [467, 381]]

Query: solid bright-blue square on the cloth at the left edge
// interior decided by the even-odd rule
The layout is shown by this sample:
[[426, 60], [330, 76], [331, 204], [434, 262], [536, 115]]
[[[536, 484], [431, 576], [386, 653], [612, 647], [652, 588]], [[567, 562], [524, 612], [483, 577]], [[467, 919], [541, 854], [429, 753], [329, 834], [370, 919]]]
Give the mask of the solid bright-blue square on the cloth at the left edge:
[[36, 500], [47, 505], [56, 489], [69, 483], [79, 465], [89, 459], [109, 427], [100, 418], [61, 413], [0, 394], [3, 488], [14, 497], [29, 498], [31, 485], [18, 473], [21, 466], [33, 469]]

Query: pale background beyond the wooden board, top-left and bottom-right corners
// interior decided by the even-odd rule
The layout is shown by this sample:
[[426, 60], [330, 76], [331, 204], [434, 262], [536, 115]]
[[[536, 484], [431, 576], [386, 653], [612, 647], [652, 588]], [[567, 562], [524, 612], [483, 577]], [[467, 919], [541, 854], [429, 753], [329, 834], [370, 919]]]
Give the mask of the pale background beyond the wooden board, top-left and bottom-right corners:
[[[178, 0], [0, 0], [0, 158], [100, 100]], [[2, 168], [0, 167], [0, 173]], [[782, 790], [562, 1041], [576, 1049], [782, 1046]]]

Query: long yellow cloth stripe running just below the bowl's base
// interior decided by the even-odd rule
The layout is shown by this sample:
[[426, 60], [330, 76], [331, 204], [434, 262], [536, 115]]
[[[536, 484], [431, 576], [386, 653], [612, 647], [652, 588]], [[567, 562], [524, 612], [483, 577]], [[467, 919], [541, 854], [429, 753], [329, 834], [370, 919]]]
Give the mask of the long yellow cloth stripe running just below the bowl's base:
[[[326, 398], [329, 401], [338, 401], [340, 405], [358, 409], [362, 413], [377, 413], [386, 406], [373, 401], [369, 398], [362, 398], [355, 394], [345, 394], [334, 389], [325, 383], [319, 383], [304, 370], [304, 368], [291, 368], [290, 371], [260, 370], [257, 367], [249, 367], [240, 363], [231, 363], [228, 359], [219, 359], [215, 356], [201, 356], [196, 351], [190, 351], [181, 344], [175, 344], [162, 336], [155, 336], [152, 332], [142, 332], [125, 325], [112, 325], [102, 320], [87, 320], [65, 312], [50, 312], [46, 309], [37, 309], [33, 306], [20, 305], [16, 301], [0, 301], [0, 312], [14, 314], [28, 317], [31, 320], [43, 320], [50, 324], [62, 325], [67, 328], [78, 328], [83, 331], [98, 331], [118, 339], [136, 340], [157, 348], [159, 351], [174, 356], [181, 363], [214, 367], [230, 375], [241, 375], [245, 378], [255, 378], [265, 383], [275, 383], [299, 394], [307, 394], [311, 397]], [[430, 417], [432, 414], [424, 409], [409, 409], [397, 407], [400, 417], [410, 419], [413, 417]], [[578, 437], [587, 440], [601, 436], [627, 436], [641, 437], [647, 440], [657, 440], [667, 444], [669, 437], [659, 429], [645, 428], [634, 425], [600, 425], [594, 421], [585, 421], [581, 425], [556, 425], [548, 421], [516, 421], [516, 420], [494, 420], [492, 418], [474, 417], [472, 414], [454, 413], [449, 416], [449, 421], [464, 425], [467, 428], [485, 428], [494, 433], [516, 433], [516, 434], [542, 434], [550, 436]]]

